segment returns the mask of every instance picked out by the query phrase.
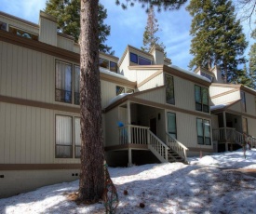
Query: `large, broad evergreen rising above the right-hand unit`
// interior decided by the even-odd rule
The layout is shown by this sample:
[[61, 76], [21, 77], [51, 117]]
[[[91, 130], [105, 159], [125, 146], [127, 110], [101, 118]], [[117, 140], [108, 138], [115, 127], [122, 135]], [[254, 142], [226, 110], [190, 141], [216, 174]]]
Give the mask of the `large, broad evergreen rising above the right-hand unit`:
[[248, 42], [236, 20], [230, 0], [191, 0], [187, 10], [193, 16], [190, 68], [220, 66], [226, 82], [236, 79], [237, 65], [245, 63], [242, 56]]

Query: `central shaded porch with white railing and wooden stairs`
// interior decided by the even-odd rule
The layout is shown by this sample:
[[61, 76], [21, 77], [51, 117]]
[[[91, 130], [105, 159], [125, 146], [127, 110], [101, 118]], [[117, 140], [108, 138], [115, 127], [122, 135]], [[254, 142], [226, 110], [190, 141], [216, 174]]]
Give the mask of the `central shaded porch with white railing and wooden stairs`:
[[[115, 124], [115, 128], [107, 129], [110, 131], [107, 139], [112, 145], [106, 146], [105, 150], [126, 151], [128, 166], [135, 163], [133, 154], [138, 151], [154, 154], [159, 162], [187, 162], [188, 149], [166, 131], [165, 110], [126, 101], [112, 111], [109, 119], [113, 124], [117, 121], [118, 127]], [[146, 153], [141, 153], [141, 158], [144, 158], [143, 154]]]

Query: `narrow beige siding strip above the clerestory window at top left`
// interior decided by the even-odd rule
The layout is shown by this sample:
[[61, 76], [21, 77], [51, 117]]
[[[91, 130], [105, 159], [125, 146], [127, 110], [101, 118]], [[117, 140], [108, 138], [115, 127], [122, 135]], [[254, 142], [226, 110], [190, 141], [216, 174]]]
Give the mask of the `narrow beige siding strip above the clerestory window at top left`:
[[11, 20], [7, 17], [1, 16], [0, 15], [0, 20], [3, 22], [6, 22], [8, 25], [11, 25], [13, 27], [19, 28], [23, 31], [29, 32], [29, 33], [34, 33], [34, 34], [38, 34], [39, 33], [39, 27], [35, 27], [32, 25], [29, 25], [27, 23], [23, 23], [19, 20]]

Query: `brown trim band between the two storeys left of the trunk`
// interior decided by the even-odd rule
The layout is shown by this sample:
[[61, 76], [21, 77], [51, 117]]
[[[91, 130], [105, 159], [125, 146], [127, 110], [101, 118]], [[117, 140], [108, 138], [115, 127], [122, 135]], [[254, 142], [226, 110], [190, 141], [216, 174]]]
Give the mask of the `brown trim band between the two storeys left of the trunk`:
[[59, 105], [59, 104], [51, 104], [51, 103], [42, 102], [42, 101], [12, 98], [12, 97], [2, 96], [2, 95], [0, 95], [0, 101], [11, 103], [11, 104], [17, 104], [17, 105], [25, 105], [25, 106], [31, 106], [31, 107], [37, 107], [37, 108], [56, 110], [61, 112], [80, 114], [79, 106], [71, 107], [71, 106], [65, 106], [65, 105]]

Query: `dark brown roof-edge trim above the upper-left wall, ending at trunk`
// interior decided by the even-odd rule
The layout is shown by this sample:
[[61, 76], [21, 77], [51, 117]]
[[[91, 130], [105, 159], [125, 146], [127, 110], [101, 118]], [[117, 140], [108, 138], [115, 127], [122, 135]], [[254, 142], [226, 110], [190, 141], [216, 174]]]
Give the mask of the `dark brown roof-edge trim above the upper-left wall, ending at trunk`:
[[0, 31], [0, 41], [16, 45], [20, 47], [26, 47], [38, 52], [42, 52], [62, 60], [70, 60], [74, 63], [80, 63], [80, 55], [69, 50], [62, 49], [60, 47], [50, 46], [46, 43], [34, 41], [29, 38], [25, 38], [13, 33]]

